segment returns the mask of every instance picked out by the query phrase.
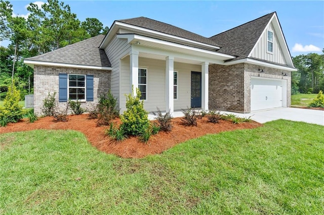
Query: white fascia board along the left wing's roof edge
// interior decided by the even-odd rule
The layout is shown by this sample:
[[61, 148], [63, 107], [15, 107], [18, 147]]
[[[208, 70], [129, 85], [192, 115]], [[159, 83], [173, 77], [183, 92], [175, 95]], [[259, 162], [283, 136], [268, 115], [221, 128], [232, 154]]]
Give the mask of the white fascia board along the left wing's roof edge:
[[31, 68], [34, 68], [34, 65], [39, 65], [39, 66], [68, 67], [68, 68], [79, 68], [79, 69], [93, 69], [93, 70], [112, 70], [112, 67], [98, 67], [98, 66], [63, 64], [63, 63], [30, 61], [30, 60], [24, 60], [24, 64], [27, 64]]

